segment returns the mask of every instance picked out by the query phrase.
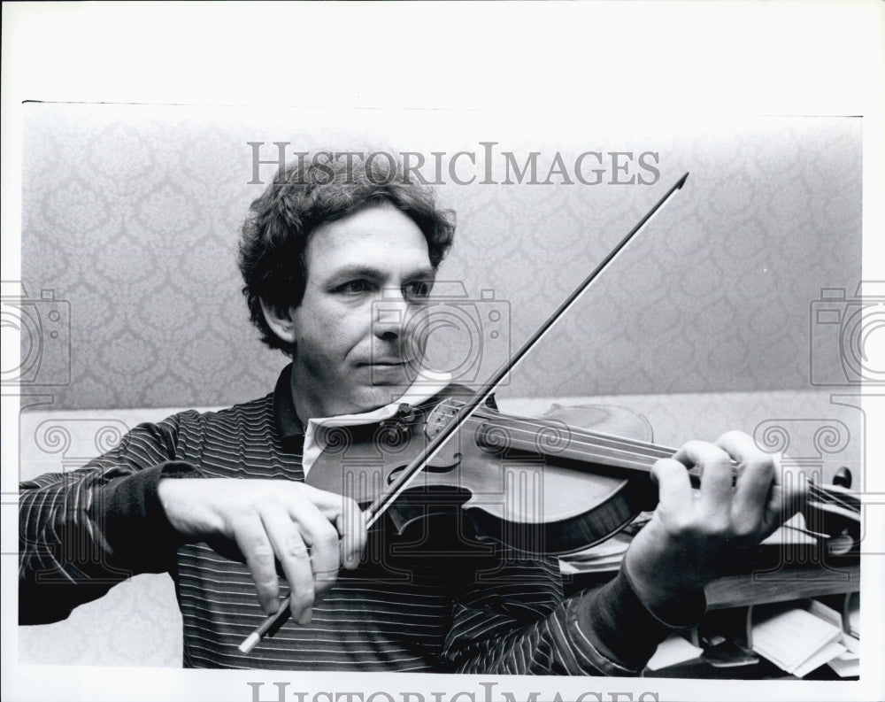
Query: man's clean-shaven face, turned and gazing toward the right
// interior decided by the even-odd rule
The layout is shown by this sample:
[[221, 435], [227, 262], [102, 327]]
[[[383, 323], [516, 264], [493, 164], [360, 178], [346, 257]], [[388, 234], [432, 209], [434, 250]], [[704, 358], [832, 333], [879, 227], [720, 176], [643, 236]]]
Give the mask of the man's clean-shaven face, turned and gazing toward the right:
[[296, 409], [332, 416], [389, 404], [420, 365], [406, 334], [435, 276], [427, 240], [403, 212], [377, 204], [315, 229], [305, 257], [304, 298], [290, 311]]

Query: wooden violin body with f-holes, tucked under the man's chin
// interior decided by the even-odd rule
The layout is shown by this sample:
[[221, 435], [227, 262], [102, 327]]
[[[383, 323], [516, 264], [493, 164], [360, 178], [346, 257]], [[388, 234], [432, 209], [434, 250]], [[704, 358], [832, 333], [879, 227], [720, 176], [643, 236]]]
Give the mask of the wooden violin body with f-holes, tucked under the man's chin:
[[[365, 507], [457, 412], [458, 402], [448, 398], [381, 425], [327, 429], [307, 482]], [[561, 555], [601, 542], [653, 508], [656, 493], [647, 472], [644, 479], [627, 478], [588, 461], [575, 449], [578, 429], [651, 439], [642, 415], [613, 405], [555, 405], [540, 419], [483, 407], [396, 499], [390, 523], [404, 534], [454, 510], [469, 518], [476, 535], [523, 552]]]

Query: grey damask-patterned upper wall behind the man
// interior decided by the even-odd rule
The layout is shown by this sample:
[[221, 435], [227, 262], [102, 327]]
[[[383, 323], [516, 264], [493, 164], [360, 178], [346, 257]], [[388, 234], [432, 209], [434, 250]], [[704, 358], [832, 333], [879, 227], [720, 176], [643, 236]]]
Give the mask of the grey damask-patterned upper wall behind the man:
[[[262, 158], [273, 158], [273, 142], [289, 142], [289, 153], [337, 144], [475, 155], [482, 166], [471, 171], [462, 158], [456, 174], [498, 184], [446, 177], [437, 189], [459, 223], [441, 277], [464, 286], [459, 313], [477, 321], [478, 336], [467, 339], [473, 346], [439, 337], [435, 359], [468, 381], [526, 339], [690, 171], [502, 395], [844, 381], [833, 329], [810, 315], [822, 288], [850, 298], [858, 285], [861, 120], [759, 118], [652, 132], [517, 117], [26, 105], [21, 309], [38, 320], [40, 341], [24, 350], [36, 359], [25, 384], [50, 390], [60, 409], [229, 405], [272, 389], [286, 359], [258, 343], [235, 266], [239, 228], [263, 189], [249, 184], [249, 142], [265, 143]], [[488, 174], [482, 142], [497, 142]], [[556, 154], [571, 167], [587, 150], [630, 152], [627, 175], [650, 180], [635, 158], [651, 151], [660, 177], [611, 184], [620, 176], [609, 163], [598, 185], [505, 185], [504, 150], [520, 164], [539, 152], [543, 174]], [[273, 166], [260, 168], [272, 176]]]

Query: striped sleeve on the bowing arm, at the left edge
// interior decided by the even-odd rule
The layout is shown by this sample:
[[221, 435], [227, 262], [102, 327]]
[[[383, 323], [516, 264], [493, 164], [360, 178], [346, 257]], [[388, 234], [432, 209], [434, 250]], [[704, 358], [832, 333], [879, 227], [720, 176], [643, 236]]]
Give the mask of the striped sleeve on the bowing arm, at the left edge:
[[65, 619], [140, 572], [173, 566], [178, 536], [161, 476], [196, 474], [175, 461], [178, 418], [142, 424], [85, 467], [19, 485], [19, 623]]

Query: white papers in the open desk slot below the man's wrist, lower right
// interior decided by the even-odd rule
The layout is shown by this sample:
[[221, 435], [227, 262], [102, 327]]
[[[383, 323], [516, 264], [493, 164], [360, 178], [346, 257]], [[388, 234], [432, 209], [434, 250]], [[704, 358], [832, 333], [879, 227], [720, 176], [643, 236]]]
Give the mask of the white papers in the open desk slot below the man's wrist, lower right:
[[753, 625], [753, 651], [789, 674], [804, 677], [848, 649], [840, 627], [795, 608]]

